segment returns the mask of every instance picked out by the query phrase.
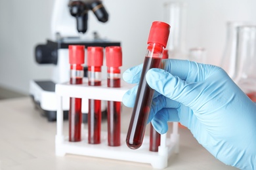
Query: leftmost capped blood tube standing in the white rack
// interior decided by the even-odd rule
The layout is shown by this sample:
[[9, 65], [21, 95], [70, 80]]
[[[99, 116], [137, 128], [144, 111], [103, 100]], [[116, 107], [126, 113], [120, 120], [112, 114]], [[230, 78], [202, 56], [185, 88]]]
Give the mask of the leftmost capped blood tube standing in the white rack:
[[[83, 84], [83, 66], [85, 63], [85, 46], [70, 45], [69, 60], [70, 60], [70, 84]], [[69, 120], [69, 141], [81, 141], [81, 98], [70, 97], [70, 110], [68, 114]]]

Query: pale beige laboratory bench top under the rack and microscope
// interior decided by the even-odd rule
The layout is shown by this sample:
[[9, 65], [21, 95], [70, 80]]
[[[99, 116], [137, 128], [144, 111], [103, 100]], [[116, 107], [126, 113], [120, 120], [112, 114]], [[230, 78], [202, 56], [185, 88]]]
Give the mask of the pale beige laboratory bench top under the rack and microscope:
[[[35, 108], [30, 97], [0, 100], [0, 109], [1, 170], [153, 169], [150, 164], [131, 161], [72, 154], [55, 156], [56, 122], [48, 122]], [[130, 116], [131, 109], [122, 106], [122, 133], [127, 131]], [[107, 122], [102, 120], [102, 130], [106, 131], [106, 128]], [[64, 134], [68, 135], [68, 120], [64, 120], [63, 129]], [[236, 169], [224, 165], [209, 154], [186, 127], [179, 126], [179, 134], [179, 154], [171, 155], [165, 169]], [[149, 135], [148, 127], [146, 135]]]

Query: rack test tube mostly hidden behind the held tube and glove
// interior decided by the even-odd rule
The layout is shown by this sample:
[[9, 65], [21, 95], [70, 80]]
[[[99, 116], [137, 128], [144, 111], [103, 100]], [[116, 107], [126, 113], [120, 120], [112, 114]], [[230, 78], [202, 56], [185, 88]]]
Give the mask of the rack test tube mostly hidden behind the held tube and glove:
[[[163, 50], [163, 57], [161, 59], [168, 59], [168, 50]], [[158, 152], [158, 146], [160, 146], [161, 143], [161, 134], [154, 129], [152, 126], [152, 123], [150, 123], [150, 148], [149, 150], [152, 152]]]

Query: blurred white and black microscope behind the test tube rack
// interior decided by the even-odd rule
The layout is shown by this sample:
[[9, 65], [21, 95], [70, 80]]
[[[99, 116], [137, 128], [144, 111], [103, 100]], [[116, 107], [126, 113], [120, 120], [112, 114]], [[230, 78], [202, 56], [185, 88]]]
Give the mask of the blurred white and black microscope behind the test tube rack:
[[[83, 35], [88, 27], [88, 14], [93, 12], [99, 22], [108, 21], [108, 12], [102, 1], [98, 0], [56, 0], [54, 1], [51, 20], [52, 40], [47, 39], [45, 44], [35, 46], [35, 61], [39, 64], [53, 64], [51, 80], [31, 80], [30, 96], [35, 107], [40, 110], [49, 122], [56, 120], [55, 84], [70, 80], [70, 64], [68, 46], [70, 44], [87, 46], [121, 46], [120, 42], [100, 39], [95, 32], [93, 39], [85, 39]], [[76, 25], [76, 29], [75, 29]], [[87, 67], [84, 67], [84, 76], [87, 77]], [[62, 99], [64, 119], [68, 119], [70, 105], [69, 97]], [[82, 100], [83, 122], [87, 122], [88, 101]], [[106, 116], [106, 103], [102, 102], [102, 118]]]

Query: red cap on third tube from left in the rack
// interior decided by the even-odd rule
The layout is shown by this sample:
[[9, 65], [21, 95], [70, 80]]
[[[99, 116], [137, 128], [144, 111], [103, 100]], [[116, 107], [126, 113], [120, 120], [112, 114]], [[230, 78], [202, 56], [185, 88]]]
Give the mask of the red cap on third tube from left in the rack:
[[121, 67], [122, 66], [122, 50], [121, 46], [106, 47], [106, 66]]

